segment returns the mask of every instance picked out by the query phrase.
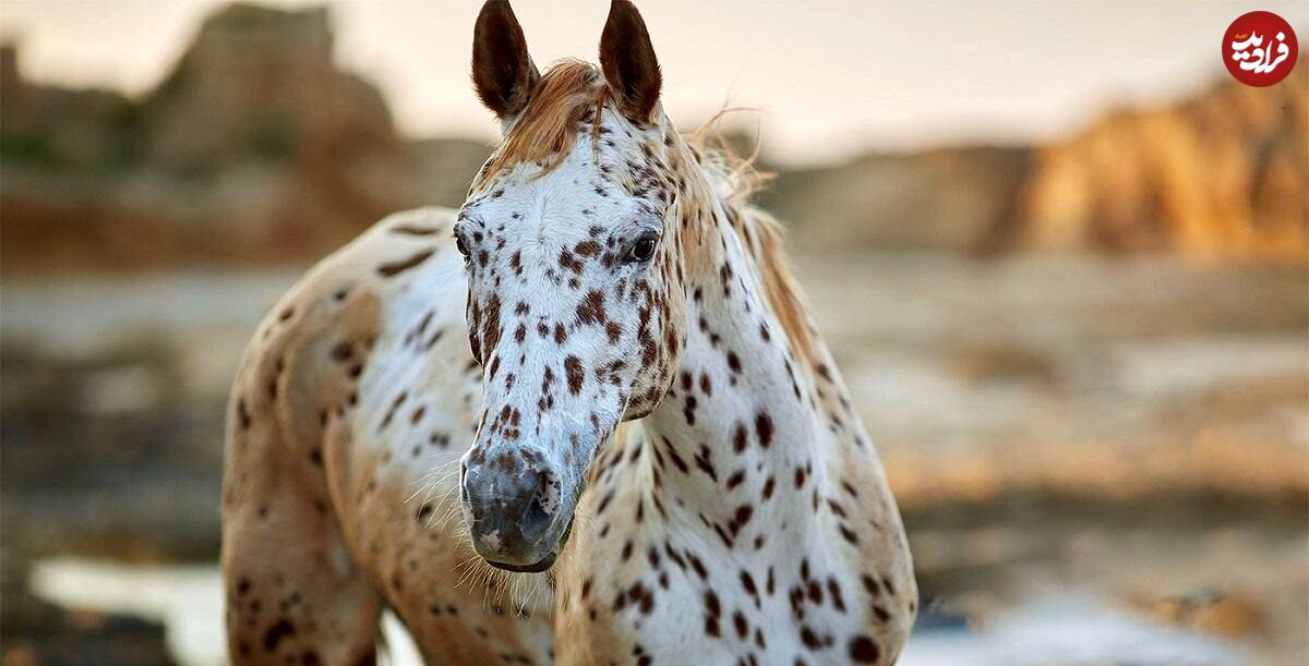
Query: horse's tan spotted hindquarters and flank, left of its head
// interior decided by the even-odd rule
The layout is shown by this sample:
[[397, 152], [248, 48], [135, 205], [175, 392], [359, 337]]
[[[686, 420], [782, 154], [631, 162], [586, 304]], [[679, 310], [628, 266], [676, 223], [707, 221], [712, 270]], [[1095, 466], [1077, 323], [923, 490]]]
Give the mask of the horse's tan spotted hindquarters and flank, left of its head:
[[368, 663], [387, 606], [429, 665], [550, 662], [546, 581], [509, 590], [471, 570], [441, 474], [473, 441], [480, 391], [454, 215], [378, 222], [293, 287], [246, 352], [223, 501], [236, 663]]

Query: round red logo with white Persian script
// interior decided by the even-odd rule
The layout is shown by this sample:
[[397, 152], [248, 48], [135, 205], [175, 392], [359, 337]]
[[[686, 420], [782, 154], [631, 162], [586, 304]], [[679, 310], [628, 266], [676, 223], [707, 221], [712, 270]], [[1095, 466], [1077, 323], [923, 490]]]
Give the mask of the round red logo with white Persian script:
[[1241, 14], [1223, 33], [1223, 64], [1245, 85], [1264, 88], [1285, 79], [1297, 55], [1296, 31], [1272, 12]]

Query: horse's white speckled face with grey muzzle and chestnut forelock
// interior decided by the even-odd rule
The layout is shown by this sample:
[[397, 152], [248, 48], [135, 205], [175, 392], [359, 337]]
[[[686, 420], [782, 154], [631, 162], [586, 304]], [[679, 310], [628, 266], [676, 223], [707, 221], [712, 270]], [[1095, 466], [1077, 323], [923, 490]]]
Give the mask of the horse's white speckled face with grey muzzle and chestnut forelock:
[[[497, 44], [486, 58], [526, 54], [507, 12], [483, 8], [475, 44]], [[478, 553], [537, 572], [567, 540], [596, 451], [619, 421], [649, 413], [674, 376], [685, 339], [674, 198], [662, 130], [627, 115], [610, 76], [579, 63], [545, 76], [530, 60], [482, 67], [479, 52], [474, 80], [508, 135], [454, 230], [483, 365], [461, 504]]]

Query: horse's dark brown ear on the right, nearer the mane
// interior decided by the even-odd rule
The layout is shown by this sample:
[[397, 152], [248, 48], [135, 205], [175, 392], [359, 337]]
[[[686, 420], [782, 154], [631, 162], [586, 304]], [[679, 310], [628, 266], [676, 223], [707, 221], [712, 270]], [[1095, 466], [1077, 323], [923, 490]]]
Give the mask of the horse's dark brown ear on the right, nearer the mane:
[[613, 0], [609, 5], [609, 21], [600, 37], [600, 67], [623, 114], [636, 122], [649, 122], [664, 77], [645, 21], [631, 0]]

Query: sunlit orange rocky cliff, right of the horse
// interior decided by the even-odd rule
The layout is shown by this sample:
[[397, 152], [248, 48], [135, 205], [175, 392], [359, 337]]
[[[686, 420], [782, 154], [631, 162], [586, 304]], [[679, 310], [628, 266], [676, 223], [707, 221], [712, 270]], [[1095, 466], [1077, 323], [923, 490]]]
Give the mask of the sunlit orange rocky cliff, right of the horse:
[[869, 154], [779, 170], [762, 203], [813, 249], [1309, 259], [1309, 76], [1224, 80], [1050, 145]]

